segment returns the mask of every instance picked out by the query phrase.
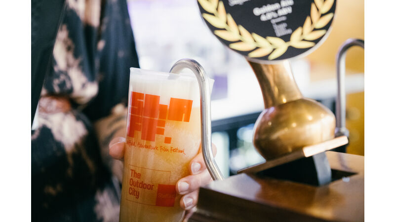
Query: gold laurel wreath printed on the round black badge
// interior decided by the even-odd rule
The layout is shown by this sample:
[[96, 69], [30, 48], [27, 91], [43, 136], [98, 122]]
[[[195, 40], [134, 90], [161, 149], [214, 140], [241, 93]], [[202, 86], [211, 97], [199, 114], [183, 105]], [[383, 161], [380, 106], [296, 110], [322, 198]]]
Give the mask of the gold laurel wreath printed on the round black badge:
[[[326, 30], [315, 30], [326, 26], [333, 17], [333, 13], [328, 12], [334, 0], [314, 0], [303, 27], [297, 28], [291, 34], [289, 41], [285, 42], [279, 37], [261, 37], [255, 33], [249, 33], [241, 25], [237, 25], [229, 13], [226, 13], [224, 3], [218, 0], [197, 0], [200, 6], [211, 14], [202, 13], [202, 17], [212, 26], [221, 29], [215, 30], [214, 34], [227, 41], [235, 41], [229, 47], [238, 51], [251, 51], [248, 57], [259, 58], [269, 55], [268, 59], [273, 60], [284, 54], [289, 46], [294, 48], [310, 48], [316, 40], [325, 35]], [[307, 40], [307, 41], [306, 41]]]

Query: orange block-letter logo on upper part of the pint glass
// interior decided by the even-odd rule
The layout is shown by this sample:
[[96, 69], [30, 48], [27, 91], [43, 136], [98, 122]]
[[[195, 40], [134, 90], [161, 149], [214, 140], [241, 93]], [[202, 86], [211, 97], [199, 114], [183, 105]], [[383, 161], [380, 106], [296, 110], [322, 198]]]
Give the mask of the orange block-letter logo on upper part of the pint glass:
[[[170, 98], [170, 104], [159, 104], [160, 96], [132, 92], [130, 119], [127, 135], [134, 137], [135, 131], [141, 132], [141, 140], [155, 141], [156, 135], [164, 135], [167, 120], [189, 122], [192, 100]], [[170, 144], [171, 137], [164, 137]]]

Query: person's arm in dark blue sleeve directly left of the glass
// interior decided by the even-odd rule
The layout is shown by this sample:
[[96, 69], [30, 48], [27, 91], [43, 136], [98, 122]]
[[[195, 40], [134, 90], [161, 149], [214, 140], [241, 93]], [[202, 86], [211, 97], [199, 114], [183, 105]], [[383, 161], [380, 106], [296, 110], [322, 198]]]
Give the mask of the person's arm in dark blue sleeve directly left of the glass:
[[98, 94], [83, 110], [93, 122], [103, 162], [118, 179], [121, 164], [108, 154], [112, 138], [124, 137], [129, 89], [129, 68], [139, 67], [126, 0], [102, 5], [95, 56]]

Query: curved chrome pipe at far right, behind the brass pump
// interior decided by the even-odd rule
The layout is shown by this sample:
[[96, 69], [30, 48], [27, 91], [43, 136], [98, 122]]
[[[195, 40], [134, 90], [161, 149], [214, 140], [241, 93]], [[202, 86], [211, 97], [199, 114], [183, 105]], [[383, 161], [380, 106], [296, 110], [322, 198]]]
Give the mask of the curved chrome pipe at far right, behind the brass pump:
[[349, 136], [349, 131], [346, 128], [346, 89], [345, 89], [345, 74], [346, 74], [346, 52], [352, 46], [360, 46], [365, 49], [365, 41], [357, 38], [347, 39], [336, 55], [336, 73], [337, 73], [337, 98], [336, 98], [336, 136]]

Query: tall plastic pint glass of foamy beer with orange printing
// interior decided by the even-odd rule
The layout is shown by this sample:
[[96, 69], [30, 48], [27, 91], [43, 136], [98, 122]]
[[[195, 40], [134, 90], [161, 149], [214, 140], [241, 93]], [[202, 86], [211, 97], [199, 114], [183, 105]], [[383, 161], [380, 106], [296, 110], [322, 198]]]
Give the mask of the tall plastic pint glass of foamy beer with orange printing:
[[131, 68], [129, 85], [119, 221], [180, 221], [175, 185], [200, 144], [197, 78]]

